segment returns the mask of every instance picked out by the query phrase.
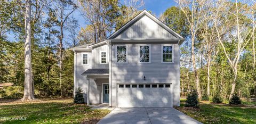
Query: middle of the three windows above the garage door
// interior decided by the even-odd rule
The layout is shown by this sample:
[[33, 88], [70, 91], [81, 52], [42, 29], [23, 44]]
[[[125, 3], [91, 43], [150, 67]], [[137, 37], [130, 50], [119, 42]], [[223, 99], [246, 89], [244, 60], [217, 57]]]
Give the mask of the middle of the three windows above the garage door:
[[140, 63], [149, 63], [150, 62], [150, 46], [139, 46], [140, 48]]

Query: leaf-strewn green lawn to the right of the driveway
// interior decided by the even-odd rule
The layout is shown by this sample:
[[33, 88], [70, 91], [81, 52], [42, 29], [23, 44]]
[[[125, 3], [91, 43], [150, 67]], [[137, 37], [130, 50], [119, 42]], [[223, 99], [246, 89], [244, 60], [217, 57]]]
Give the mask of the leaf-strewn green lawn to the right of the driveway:
[[256, 123], [256, 102], [243, 102], [243, 105], [213, 104], [202, 101], [199, 109], [186, 108], [181, 99], [179, 111], [203, 123]]

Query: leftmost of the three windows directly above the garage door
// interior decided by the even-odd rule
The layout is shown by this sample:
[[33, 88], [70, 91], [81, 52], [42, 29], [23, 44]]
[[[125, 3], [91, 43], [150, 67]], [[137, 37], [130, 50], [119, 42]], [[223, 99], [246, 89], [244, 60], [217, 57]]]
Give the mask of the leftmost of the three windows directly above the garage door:
[[125, 45], [116, 46], [116, 62], [117, 63], [127, 62], [127, 49]]

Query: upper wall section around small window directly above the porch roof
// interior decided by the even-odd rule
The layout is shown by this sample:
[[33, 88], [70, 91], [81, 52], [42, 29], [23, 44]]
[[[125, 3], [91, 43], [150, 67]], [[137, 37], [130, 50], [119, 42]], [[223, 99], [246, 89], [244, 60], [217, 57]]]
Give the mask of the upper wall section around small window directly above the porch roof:
[[[107, 52], [107, 64], [101, 64], [101, 51]], [[93, 54], [92, 68], [109, 68], [108, 51], [109, 51], [109, 48], [108, 48], [108, 45], [106, 45], [106, 44], [93, 49], [93, 51], [92, 51], [92, 54]]]

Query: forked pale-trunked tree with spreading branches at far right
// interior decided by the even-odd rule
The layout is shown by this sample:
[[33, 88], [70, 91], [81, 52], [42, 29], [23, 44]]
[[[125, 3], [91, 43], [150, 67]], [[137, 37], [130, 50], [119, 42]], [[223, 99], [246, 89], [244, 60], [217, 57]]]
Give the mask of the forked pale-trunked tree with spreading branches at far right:
[[[237, 67], [240, 56], [244, 51], [245, 46], [252, 39], [254, 34], [252, 31], [255, 29], [255, 27], [254, 29], [249, 29], [247, 23], [243, 21], [243, 19], [247, 17], [247, 12], [251, 7], [248, 5], [252, 5], [244, 4], [248, 2], [250, 1], [239, 1], [239, 3], [237, 0], [235, 2], [226, 0], [218, 1], [215, 3], [217, 4], [217, 7], [215, 8], [216, 10], [212, 13], [218, 41], [223, 48], [223, 52], [225, 53], [234, 74], [229, 100], [235, 93], [238, 72]], [[225, 45], [226, 43], [230, 42], [235, 44], [235, 49], [232, 54], [228, 53]]]

